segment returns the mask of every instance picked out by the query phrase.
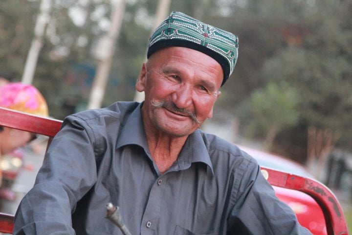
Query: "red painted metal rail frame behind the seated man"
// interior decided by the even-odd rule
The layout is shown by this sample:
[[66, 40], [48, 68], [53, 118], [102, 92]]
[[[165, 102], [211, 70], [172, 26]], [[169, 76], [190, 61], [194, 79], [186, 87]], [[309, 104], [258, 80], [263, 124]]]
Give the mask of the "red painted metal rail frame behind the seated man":
[[[33, 116], [0, 107], [0, 126], [53, 138], [60, 130], [61, 124], [61, 120]], [[313, 179], [270, 168], [262, 167], [262, 172], [267, 176], [267, 180], [272, 186], [299, 190], [315, 199], [324, 213], [328, 235], [348, 235], [340, 203], [328, 187]], [[0, 232], [11, 234], [13, 226], [14, 216], [0, 212]]]

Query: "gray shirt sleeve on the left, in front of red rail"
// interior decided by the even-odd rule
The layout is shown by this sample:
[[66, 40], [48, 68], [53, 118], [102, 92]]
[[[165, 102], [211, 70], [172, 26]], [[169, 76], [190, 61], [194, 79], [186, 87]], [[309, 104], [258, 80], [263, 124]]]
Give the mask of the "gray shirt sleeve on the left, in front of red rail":
[[75, 234], [71, 214], [96, 182], [94, 135], [74, 116], [64, 120], [40, 168], [34, 187], [15, 214], [13, 234]]

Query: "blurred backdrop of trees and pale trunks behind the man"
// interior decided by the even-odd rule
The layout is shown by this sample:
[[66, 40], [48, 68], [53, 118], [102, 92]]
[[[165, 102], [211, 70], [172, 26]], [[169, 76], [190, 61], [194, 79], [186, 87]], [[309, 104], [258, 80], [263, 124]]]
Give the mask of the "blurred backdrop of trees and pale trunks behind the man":
[[171, 11], [239, 36], [203, 128], [302, 164], [351, 224], [351, 0], [1, 0], [0, 74], [35, 85], [58, 119], [138, 100], [149, 36]]

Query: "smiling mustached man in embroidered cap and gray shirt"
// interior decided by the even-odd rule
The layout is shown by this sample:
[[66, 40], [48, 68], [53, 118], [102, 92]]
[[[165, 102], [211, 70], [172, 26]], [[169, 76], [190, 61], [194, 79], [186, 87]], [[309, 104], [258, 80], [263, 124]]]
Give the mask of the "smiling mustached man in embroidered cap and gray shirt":
[[65, 118], [14, 233], [121, 234], [112, 202], [132, 235], [309, 234], [252, 157], [199, 129], [237, 55], [237, 36], [172, 12], [137, 79], [145, 101]]

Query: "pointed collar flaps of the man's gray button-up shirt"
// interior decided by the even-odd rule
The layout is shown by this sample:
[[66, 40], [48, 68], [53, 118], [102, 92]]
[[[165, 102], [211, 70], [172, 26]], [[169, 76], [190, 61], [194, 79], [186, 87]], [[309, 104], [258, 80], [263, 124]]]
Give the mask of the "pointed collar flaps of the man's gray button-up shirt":
[[[125, 124], [121, 127], [120, 135], [117, 138], [116, 148], [128, 144], [136, 144], [144, 148], [144, 151], [150, 156], [149, 147], [143, 128], [141, 114], [142, 105], [143, 103], [137, 106], [137, 108], [127, 118]], [[201, 131], [199, 129], [187, 138], [187, 141], [185, 142], [177, 158], [179, 170], [189, 168], [192, 163], [204, 163], [209, 166], [214, 174], [213, 164], [210, 161], [207, 144], [206, 141], [203, 140], [203, 135], [201, 135]]]

